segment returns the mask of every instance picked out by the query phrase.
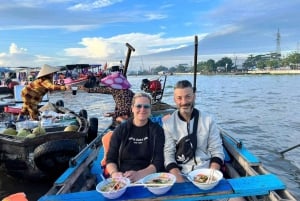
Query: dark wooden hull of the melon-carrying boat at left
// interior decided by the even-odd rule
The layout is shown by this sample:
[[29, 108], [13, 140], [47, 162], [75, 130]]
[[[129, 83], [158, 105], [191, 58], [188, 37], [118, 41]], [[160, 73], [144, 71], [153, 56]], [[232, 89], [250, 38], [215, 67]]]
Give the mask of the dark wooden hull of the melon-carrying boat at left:
[[[70, 110], [58, 107], [60, 111]], [[72, 121], [74, 122], [74, 121]], [[89, 122], [76, 115], [77, 131], [65, 125], [47, 127], [34, 138], [0, 134], [0, 165], [7, 174], [23, 179], [55, 179], [68, 168], [69, 160], [87, 145]]]

